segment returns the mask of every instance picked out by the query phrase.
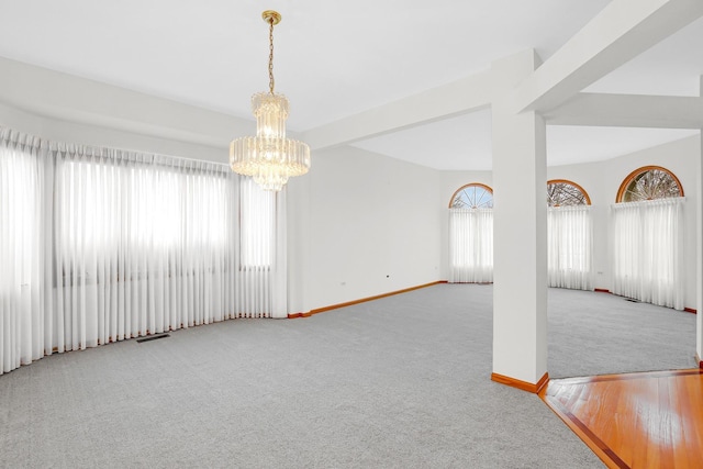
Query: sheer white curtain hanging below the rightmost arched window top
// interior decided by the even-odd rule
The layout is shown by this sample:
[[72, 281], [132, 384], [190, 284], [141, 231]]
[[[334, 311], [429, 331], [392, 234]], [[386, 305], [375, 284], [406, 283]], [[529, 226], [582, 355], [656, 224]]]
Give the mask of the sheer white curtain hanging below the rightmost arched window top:
[[612, 205], [613, 293], [683, 310], [683, 203]]

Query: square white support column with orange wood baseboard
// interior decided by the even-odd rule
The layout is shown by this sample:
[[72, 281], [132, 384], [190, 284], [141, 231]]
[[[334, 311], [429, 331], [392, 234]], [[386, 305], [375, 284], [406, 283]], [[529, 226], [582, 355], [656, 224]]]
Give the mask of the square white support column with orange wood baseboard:
[[511, 109], [510, 102], [492, 108], [491, 379], [537, 392], [547, 379], [546, 126], [534, 111]]

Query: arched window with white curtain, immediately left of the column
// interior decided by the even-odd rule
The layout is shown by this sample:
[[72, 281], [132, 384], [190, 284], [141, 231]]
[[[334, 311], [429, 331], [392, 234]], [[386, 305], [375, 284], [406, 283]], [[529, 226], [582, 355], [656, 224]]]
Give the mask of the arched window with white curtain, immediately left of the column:
[[493, 190], [472, 182], [449, 202], [449, 282], [493, 281]]

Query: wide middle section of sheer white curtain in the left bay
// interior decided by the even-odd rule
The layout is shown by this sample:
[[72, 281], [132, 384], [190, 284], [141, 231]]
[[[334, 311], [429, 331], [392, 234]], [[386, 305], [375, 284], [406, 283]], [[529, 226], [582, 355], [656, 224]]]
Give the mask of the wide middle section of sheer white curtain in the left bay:
[[59, 351], [222, 321], [236, 181], [221, 165], [54, 144]]

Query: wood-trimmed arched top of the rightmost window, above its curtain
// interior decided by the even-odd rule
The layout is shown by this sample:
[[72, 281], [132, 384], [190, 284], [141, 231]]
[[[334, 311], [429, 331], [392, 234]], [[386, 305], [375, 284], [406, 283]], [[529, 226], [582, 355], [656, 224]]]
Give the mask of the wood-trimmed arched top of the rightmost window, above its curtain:
[[683, 197], [679, 178], [661, 166], [643, 166], [623, 180], [615, 201], [639, 202], [670, 197]]

